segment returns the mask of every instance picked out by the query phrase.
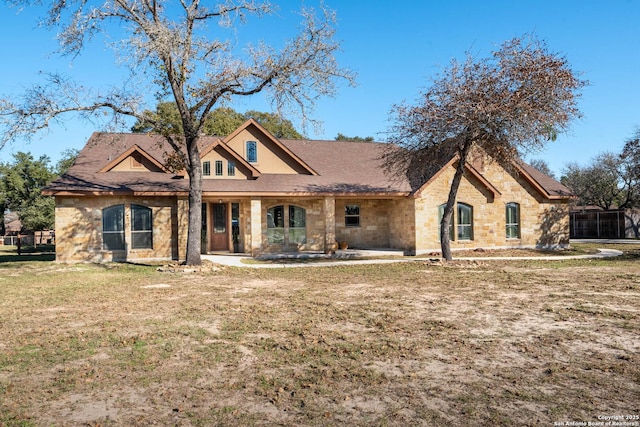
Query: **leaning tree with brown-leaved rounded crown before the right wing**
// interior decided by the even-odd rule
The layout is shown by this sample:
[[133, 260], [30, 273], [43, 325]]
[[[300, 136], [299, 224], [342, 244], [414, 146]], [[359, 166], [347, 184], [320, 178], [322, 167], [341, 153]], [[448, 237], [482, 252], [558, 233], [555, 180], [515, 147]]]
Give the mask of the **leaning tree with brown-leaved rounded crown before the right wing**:
[[448, 230], [473, 149], [510, 165], [521, 152], [542, 148], [580, 115], [578, 92], [586, 84], [565, 58], [525, 36], [504, 43], [487, 59], [468, 54], [463, 63], [452, 61], [417, 105], [393, 107], [393, 145], [385, 155], [390, 173], [421, 185], [433, 169], [457, 156], [440, 228], [443, 258], [452, 259]]

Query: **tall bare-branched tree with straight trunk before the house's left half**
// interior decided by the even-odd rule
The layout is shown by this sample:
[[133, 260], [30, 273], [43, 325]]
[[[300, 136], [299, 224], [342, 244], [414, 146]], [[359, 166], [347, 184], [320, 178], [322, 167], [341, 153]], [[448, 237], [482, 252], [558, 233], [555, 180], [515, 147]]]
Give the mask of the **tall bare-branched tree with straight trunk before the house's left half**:
[[[36, 0], [7, 0], [19, 6]], [[335, 15], [303, 9], [298, 35], [275, 49], [260, 42], [236, 46], [234, 30], [248, 16], [273, 14], [268, 1], [220, 0], [54, 0], [44, 24], [58, 28], [63, 54], [79, 55], [99, 33], [123, 38], [113, 46], [130, 69], [122, 88], [107, 93], [84, 89], [73, 80], [47, 74], [45, 84], [27, 90], [19, 102], [0, 99], [0, 146], [18, 137], [30, 137], [68, 112], [89, 119], [108, 112], [114, 123], [135, 117], [150, 123], [155, 132], [184, 158], [189, 175], [189, 231], [187, 264], [200, 258], [202, 166], [198, 140], [210, 111], [236, 97], [266, 92], [273, 107], [292, 108], [303, 121], [310, 118], [320, 96], [332, 96], [336, 80], [354, 83], [354, 75], [338, 67], [334, 53]], [[219, 38], [208, 24], [217, 23]], [[116, 25], [118, 24], [118, 25]], [[117, 29], [117, 30], [116, 30]], [[111, 32], [111, 33], [110, 33]], [[241, 52], [241, 53], [239, 53]], [[149, 94], [155, 95], [149, 99]], [[175, 126], [145, 113], [148, 104], [175, 102], [182, 121]], [[144, 106], [147, 104], [147, 108]]]

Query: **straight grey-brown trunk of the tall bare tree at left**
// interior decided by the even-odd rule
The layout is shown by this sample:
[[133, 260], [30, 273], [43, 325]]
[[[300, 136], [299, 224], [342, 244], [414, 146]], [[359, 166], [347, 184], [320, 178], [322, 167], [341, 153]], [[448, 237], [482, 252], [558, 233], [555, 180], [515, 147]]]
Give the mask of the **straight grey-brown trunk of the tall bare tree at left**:
[[187, 265], [201, 265], [200, 257], [202, 236], [202, 166], [198, 137], [187, 140], [186, 148], [189, 157], [189, 229], [187, 233]]

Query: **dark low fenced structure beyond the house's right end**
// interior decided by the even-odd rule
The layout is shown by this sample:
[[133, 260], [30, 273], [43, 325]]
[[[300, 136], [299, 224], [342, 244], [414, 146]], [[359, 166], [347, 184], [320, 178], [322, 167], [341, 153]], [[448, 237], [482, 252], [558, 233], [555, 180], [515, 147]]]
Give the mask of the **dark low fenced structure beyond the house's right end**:
[[572, 239], [623, 239], [624, 211], [571, 212]]

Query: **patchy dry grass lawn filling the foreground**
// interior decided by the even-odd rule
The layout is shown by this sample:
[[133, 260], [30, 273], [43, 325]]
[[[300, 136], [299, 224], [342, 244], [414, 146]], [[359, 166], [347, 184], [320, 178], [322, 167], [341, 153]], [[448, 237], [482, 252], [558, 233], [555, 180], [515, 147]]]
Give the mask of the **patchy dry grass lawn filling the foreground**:
[[640, 415], [640, 251], [159, 273], [0, 264], [0, 425]]

